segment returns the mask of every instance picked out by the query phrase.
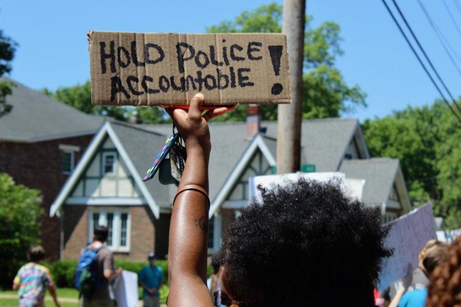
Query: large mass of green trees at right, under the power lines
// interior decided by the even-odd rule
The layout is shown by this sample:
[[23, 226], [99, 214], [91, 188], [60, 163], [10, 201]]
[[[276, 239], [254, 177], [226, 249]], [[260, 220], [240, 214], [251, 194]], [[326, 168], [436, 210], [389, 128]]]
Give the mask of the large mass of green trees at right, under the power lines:
[[461, 134], [442, 101], [366, 120], [362, 129], [371, 156], [400, 159], [413, 204], [430, 201], [447, 228], [461, 227]]

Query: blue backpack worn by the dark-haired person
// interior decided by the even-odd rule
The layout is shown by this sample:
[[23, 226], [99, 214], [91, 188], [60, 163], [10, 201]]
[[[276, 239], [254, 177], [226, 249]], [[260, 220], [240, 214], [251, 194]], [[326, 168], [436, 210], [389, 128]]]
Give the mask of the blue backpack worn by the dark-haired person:
[[97, 274], [97, 253], [102, 248], [104, 246], [90, 250], [87, 246], [78, 260], [74, 277], [74, 287], [84, 297], [91, 297], [95, 288], [101, 284], [101, 280]]

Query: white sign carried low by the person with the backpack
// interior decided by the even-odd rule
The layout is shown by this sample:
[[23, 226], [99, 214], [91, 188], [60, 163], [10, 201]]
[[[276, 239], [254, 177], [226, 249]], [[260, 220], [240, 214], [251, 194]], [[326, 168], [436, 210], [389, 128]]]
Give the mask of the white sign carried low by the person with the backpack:
[[138, 305], [138, 274], [122, 271], [114, 286], [117, 307], [137, 307]]

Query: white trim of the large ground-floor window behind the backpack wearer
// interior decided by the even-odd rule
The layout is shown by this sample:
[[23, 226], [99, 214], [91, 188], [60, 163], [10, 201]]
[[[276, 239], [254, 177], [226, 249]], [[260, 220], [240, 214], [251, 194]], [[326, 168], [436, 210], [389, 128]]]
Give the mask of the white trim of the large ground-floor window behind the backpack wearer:
[[[99, 220], [98, 224], [101, 226], [107, 226], [107, 213], [114, 214], [114, 220], [112, 225], [112, 246], [108, 246], [108, 248], [113, 252], [121, 252], [121, 253], [128, 253], [130, 252], [130, 245], [131, 245], [131, 214], [129, 210], [97, 210], [92, 209], [88, 210], [88, 242], [92, 242], [93, 240], [93, 213], [99, 213]], [[121, 214], [127, 213], [127, 246], [119, 246], [120, 245], [120, 233], [121, 233]], [[118, 231], [115, 231], [118, 229]]]

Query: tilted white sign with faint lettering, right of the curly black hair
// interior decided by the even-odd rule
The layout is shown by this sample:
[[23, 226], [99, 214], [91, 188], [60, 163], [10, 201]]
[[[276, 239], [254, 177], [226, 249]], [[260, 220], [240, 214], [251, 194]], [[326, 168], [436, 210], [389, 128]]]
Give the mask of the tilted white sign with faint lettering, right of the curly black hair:
[[431, 204], [397, 218], [385, 240], [385, 246], [394, 253], [383, 262], [378, 290], [386, 289], [392, 282], [407, 274], [408, 264], [418, 267], [418, 255], [430, 239], [436, 239], [435, 221]]

